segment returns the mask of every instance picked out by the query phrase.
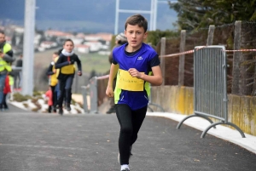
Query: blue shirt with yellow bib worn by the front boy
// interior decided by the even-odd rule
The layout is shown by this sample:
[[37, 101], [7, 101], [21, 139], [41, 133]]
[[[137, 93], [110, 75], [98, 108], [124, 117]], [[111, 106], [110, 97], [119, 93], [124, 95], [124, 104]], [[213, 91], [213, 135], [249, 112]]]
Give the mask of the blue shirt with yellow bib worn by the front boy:
[[131, 77], [128, 70], [136, 68], [137, 71], [151, 75], [151, 68], [159, 66], [160, 60], [154, 48], [148, 44], [143, 43], [142, 47], [134, 53], [125, 52], [125, 46], [127, 43], [113, 49], [113, 64], [119, 64], [114, 102], [129, 105], [131, 110], [137, 110], [148, 105], [150, 85], [142, 79]]

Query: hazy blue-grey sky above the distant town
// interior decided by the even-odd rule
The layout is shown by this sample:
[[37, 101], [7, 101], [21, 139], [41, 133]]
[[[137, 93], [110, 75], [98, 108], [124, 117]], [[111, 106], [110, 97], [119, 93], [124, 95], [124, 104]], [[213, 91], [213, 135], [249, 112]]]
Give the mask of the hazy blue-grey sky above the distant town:
[[[24, 22], [26, 0], [1, 0], [0, 19]], [[114, 31], [116, 0], [37, 0], [36, 26], [39, 29], [65, 31]], [[166, 1], [165, 1], [166, 2]], [[119, 9], [150, 10], [151, 0], [119, 0]], [[124, 31], [125, 20], [131, 14], [119, 13], [119, 31]], [[143, 14], [150, 25], [150, 15]], [[173, 30], [177, 13], [168, 4], [158, 4], [157, 29]]]

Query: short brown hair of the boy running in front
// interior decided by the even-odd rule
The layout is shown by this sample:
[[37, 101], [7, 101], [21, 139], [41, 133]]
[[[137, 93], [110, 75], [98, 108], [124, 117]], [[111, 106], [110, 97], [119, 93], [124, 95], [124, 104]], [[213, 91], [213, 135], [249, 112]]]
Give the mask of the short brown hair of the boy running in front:
[[125, 22], [125, 31], [128, 25], [143, 27], [145, 32], [148, 30], [148, 20], [146, 20], [141, 14], [134, 14], [128, 17]]

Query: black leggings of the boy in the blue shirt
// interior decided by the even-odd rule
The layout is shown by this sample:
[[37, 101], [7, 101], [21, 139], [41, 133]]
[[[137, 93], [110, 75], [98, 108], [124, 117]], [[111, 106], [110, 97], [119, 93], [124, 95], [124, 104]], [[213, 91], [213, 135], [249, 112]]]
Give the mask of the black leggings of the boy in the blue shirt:
[[119, 154], [120, 164], [129, 164], [130, 147], [137, 140], [137, 133], [143, 124], [148, 106], [131, 111], [129, 105], [115, 106], [116, 115], [120, 124]]

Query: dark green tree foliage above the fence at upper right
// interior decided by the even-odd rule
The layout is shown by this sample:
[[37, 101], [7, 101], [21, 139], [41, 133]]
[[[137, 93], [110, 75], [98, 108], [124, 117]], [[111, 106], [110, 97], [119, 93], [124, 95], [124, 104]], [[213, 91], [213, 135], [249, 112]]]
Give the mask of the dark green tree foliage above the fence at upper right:
[[168, 3], [177, 12], [176, 24], [180, 30], [195, 31], [236, 20], [256, 20], [256, 0], [177, 0], [177, 3]]

